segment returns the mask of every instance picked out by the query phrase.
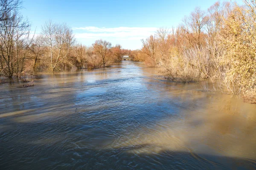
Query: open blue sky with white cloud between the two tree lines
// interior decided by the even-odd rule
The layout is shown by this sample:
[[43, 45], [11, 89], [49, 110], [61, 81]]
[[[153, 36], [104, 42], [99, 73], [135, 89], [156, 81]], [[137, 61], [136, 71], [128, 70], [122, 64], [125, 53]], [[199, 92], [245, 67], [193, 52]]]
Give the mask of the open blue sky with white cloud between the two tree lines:
[[[185, 15], [200, 6], [207, 10], [217, 0], [23, 0], [21, 13], [40, 33], [48, 20], [67, 23], [78, 42], [97, 39], [123, 48], [141, 48], [141, 39], [157, 28], [178, 26]], [[238, 0], [241, 2], [241, 0]]]

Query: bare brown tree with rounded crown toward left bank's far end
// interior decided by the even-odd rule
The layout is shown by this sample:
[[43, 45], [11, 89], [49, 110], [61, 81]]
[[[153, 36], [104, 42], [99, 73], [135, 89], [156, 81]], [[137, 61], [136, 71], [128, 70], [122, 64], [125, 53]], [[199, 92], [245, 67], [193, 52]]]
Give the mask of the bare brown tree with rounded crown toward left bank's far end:
[[102, 60], [103, 68], [105, 68], [106, 63], [110, 59], [110, 51], [111, 49], [111, 43], [103, 40], [96, 40], [93, 44], [93, 50]]

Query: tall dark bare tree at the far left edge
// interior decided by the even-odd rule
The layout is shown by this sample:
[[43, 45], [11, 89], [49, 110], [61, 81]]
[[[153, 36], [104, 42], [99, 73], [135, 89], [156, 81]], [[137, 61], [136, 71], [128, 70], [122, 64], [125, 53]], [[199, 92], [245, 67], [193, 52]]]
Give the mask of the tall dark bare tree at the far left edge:
[[[16, 3], [15, 3], [16, 2]], [[12, 79], [23, 72], [27, 57], [29, 23], [17, 13], [19, 1], [0, 1], [0, 76]], [[6, 4], [7, 3], [7, 4]], [[15, 4], [13, 4], [15, 3]], [[4, 16], [3, 16], [4, 15]]]

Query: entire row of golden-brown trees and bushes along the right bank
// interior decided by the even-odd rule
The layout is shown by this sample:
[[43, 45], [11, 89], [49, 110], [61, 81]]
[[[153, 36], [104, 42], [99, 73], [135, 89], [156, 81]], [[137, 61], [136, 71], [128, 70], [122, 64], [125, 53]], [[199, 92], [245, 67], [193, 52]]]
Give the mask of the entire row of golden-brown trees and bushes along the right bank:
[[135, 60], [163, 67], [178, 82], [209, 80], [213, 88], [256, 103], [256, 1], [197, 7], [177, 28], [159, 28], [142, 40]]

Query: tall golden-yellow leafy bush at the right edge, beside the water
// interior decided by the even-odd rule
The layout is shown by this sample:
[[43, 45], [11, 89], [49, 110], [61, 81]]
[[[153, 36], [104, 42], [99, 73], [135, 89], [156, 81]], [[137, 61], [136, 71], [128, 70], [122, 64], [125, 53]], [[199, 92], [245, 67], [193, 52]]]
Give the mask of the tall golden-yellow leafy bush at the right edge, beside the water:
[[256, 101], [256, 2], [236, 6], [224, 20], [221, 32], [226, 48], [225, 79], [241, 87], [245, 98]]

